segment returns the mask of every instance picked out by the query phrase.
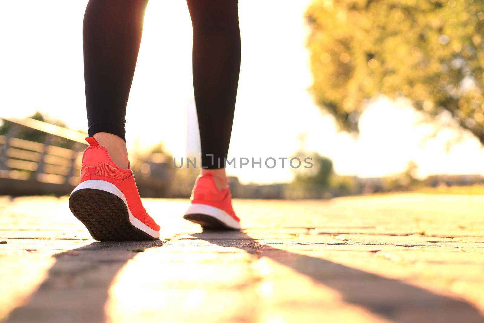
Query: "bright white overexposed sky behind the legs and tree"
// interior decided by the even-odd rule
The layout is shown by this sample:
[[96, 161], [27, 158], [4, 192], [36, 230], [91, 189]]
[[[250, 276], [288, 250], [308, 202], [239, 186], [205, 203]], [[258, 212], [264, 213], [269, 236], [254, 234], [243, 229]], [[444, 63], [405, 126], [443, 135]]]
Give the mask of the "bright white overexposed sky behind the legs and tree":
[[[4, 1], [0, 115], [24, 117], [39, 110], [73, 129], [86, 129], [82, 19], [86, 0]], [[338, 133], [307, 88], [311, 83], [302, 13], [309, 0], [240, 0], [242, 71], [229, 157], [290, 157], [305, 147], [333, 159], [339, 174], [384, 176], [415, 160], [422, 176], [483, 173], [484, 151], [471, 137], [448, 153], [443, 131], [421, 144], [431, 126], [412, 108], [381, 100], [361, 120], [358, 139]], [[184, 1], [148, 5], [127, 109], [131, 149], [163, 141], [185, 153], [186, 107], [193, 98], [191, 22]], [[229, 169], [243, 182], [284, 182], [281, 169]]]

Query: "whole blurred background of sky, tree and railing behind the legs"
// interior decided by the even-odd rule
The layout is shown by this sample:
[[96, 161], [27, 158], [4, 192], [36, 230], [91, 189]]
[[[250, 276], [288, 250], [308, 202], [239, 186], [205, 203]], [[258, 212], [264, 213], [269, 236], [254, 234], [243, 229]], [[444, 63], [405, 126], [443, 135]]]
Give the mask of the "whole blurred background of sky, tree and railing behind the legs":
[[[1, 5], [1, 194], [66, 194], [76, 184], [86, 3]], [[234, 196], [484, 192], [482, 1], [241, 0], [239, 8], [229, 158], [310, 156], [315, 167], [229, 168]], [[186, 197], [197, 174], [172, 167], [198, 149], [191, 33], [183, 1], [148, 4], [126, 117], [143, 196]]]

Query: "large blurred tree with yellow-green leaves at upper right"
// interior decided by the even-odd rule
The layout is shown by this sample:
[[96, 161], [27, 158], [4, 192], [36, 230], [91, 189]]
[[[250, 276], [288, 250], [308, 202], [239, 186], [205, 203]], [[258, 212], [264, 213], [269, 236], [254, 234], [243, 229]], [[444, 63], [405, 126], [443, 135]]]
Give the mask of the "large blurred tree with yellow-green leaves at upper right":
[[383, 94], [449, 111], [484, 144], [484, 1], [313, 0], [306, 19], [312, 92], [342, 130]]

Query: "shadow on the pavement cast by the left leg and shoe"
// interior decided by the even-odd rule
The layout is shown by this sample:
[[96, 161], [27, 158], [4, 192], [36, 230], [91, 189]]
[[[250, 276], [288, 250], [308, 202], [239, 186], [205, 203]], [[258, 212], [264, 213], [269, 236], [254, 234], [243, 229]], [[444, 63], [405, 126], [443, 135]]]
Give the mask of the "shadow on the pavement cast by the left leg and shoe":
[[[54, 255], [47, 277], [24, 306], [6, 322], [105, 322], [109, 287], [137, 249], [162, 246], [161, 241], [94, 242]], [[135, 250], [135, 251], [133, 251]]]

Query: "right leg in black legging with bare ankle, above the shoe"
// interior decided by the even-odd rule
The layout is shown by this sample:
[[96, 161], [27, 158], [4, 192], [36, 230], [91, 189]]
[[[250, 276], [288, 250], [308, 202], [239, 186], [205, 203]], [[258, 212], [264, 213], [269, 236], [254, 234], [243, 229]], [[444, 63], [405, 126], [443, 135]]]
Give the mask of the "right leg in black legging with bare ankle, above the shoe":
[[238, 1], [187, 3], [193, 24], [193, 83], [202, 165], [226, 181], [224, 158], [232, 131], [241, 63]]

